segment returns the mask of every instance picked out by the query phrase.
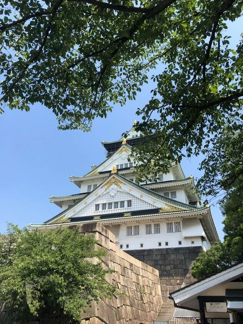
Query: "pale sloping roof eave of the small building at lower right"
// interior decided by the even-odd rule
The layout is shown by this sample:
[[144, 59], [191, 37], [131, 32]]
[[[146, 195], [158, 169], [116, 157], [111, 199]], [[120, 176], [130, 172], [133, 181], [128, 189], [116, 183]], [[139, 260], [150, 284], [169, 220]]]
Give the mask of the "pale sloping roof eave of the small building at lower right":
[[[214, 288], [217, 285], [232, 281], [243, 274], [243, 262], [230, 266], [225, 270], [214, 273], [205, 279], [201, 279], [190, 285], [171, 292], [170, 295], [174, 303], [179, 306], [186, 306], [192, 300], [197, 300], [197, 297], [203, 295], [205, 291]], [[199, 306], [198, 306], [199, 309]]]

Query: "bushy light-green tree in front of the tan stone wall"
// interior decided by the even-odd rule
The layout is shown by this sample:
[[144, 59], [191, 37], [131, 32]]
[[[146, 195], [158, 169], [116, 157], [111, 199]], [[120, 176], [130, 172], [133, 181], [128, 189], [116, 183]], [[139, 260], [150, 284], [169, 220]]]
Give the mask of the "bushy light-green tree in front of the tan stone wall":
[[[91, 301], [111, 297], [114, 287], [105, 280], [105, 251], [93, 235], [78, 229], [20, 230], [9, 225], [0, 240], [0, 301], [12, 304], [17, 319], [41, 315], [60, 307], [80, 321]], [[88, 258], [98, 258], [92, 263]]]

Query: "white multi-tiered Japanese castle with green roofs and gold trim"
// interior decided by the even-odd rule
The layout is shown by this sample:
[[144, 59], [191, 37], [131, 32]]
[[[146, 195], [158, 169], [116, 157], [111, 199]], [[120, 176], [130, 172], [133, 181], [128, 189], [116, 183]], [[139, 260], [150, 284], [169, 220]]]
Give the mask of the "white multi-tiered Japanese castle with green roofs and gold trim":
[[[134, 125], [135, 126], [135, 125]], [[116, 237], [124, 251], [201, 247], [208, 249], [218, 239], [208, 205], [202, 205], [193, 177], [186, 177], [179, 163], [151, 182], [136, 181], [132, 147], [142, 136], [133, 127], [113, 142], [102, 142], [106, 159], [83, 176], [71, 176], [79, 192], [51, 196], [61, 208], [58, 215], [30, 227], [64, 223], [100, 222]]]

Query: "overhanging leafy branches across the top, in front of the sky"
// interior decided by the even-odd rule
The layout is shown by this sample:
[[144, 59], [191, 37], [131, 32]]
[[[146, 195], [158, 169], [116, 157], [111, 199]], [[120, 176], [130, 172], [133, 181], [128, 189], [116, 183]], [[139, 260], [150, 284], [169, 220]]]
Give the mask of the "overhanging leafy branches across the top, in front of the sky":
[[[151, 98], [137, 130], [154, 134], [135, 158], [138, 177], [168, 171], [213, 152], [227, 125], [242, 127], [243, 42], [231, 46], [227, 24], [242, 0], [3, 0], [0, 3], [1, 102], [52, 109], [61, 129], [89, 130], [114, 103]], [[154, 145], [156, 144], [156, 145]], [[162, 158], [161, 158], [162, 157]], [[205, 161], [205, 165], [207, 160]], [[209, 179], [208, 179], [209, 180]]]

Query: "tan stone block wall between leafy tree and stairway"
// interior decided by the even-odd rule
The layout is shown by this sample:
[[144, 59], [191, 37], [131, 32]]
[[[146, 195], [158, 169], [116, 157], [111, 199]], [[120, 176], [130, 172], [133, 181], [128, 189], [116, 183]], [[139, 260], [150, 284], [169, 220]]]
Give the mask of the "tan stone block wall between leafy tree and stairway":
[[[75, 226], [69, 225], [69, 228]], [[112, 299], [103, 299], [99, 304], [93, 303], [88, 307], [88, 311], [82, 314], [81, 324], [153, 324], [163, 303], [158, 270], [118, 249], [115, 236], [99, 223], [83, 224], [78, 228], [84, 235], [93, 233], [99, 245], [107, 250], [104, 267], [115, 270], [107, 276], [107, 281], [114, 284], [119, 292]], [[71, 323], [57, 309], [49, 309], [42, 318], [27, 322], [17, 322], [13, 315], [13, 311], [3, 305], [0, 324]]]

